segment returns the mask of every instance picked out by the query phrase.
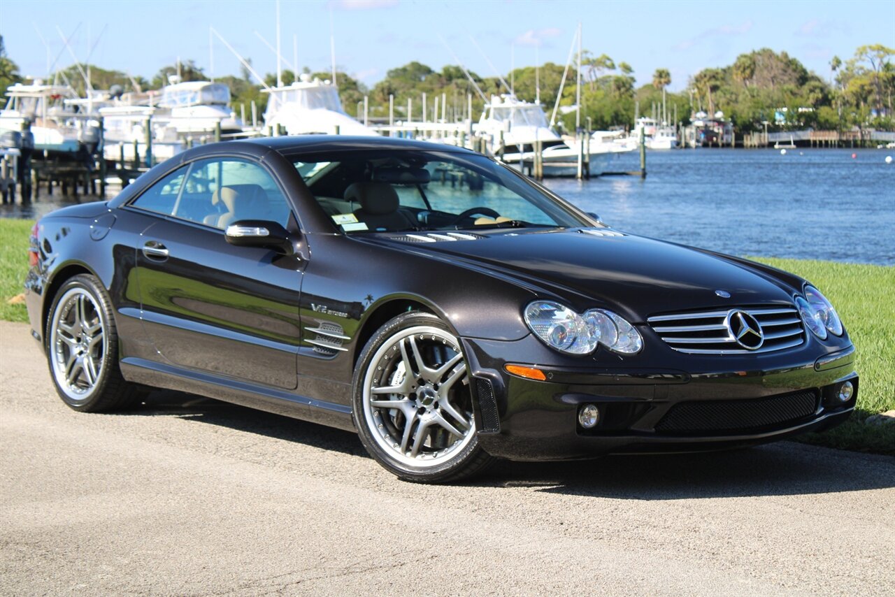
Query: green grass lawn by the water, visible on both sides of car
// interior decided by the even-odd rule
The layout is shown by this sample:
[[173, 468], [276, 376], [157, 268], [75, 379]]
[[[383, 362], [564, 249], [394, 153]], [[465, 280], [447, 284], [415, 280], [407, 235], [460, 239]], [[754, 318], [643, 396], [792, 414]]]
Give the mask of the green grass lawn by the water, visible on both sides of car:
[[[28, 320], [23, 303], [9, 303], [22, 292], [28, 271], [28, 244], [33, 220], [0, 218], [0, 320]], [[886, 289], [895, 288], [895, 266], [836, 261], [751, 257], [810, 280], [836, 305], [857, 346], [861, 383], [855, 414], [839, 427], [810, 433], [798, 441], [829, 448], [895, 456], [895, 424], [865, 423], [874, 414], [895, 409], [895, 303]]]

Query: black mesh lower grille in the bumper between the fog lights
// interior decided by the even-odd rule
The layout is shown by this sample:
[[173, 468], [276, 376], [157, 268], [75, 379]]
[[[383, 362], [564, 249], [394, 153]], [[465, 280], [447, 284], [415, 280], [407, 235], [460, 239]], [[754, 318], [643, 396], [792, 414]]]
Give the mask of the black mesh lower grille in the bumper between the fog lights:
[[656, 425], [665, 433], [760, 430], [814, 414], [817, 392], [805, 390], [750, 400], [705, 400], [673, 405]]

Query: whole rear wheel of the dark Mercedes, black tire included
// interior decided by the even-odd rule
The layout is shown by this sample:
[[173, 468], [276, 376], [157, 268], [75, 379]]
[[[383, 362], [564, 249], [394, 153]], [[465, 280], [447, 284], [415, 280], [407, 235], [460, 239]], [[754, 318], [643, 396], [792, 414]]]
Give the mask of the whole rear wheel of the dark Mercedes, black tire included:
[[107, 413], [146, 396], [122, 377], [112, 304], [97, 277], [79, 274], [59, 288], [45, 331], [50, 379], [72, 409]]

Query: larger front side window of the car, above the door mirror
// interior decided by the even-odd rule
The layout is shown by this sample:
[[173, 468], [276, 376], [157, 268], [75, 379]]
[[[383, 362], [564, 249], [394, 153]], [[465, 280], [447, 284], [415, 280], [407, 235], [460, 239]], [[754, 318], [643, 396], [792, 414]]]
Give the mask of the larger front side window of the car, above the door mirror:
[[193, 162], [173, 215], [223, 230], [243, 219], [286, 226], [291, 210], [262, 166], [243, 159], [210, 158]]

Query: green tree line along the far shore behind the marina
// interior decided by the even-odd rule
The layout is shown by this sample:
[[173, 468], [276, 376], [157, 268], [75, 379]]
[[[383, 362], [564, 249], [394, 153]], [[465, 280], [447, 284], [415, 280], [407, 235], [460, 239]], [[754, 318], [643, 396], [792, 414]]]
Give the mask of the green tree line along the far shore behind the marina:
[[[673, 125], [690, 124], [690, 116], [698, 112], [712, 116], [720, 111], [740, 138], [754, 132], [806, 128], [837, 132], [895, 131], [895, 49], [882, 44], [857, 47], [851, 57], [833, 56], [829, 67], [829, 72], [811, 72], [796, 57], [764, 47], [737, 56], [733, 64], [705, 68], [690, 77], [683, 90], [668, 92], [672, 82], [668, 69], [658, 68], [652, 76], [635, 73], [623, 60], [584, 50], [580, 68], [581, 125], [586, 124], [589, 130], [629, 129], [635, 113], [658, 116], [661, 120], [664, 105], [668, 119], [677, 120], [669, 123]], [[81, 96], [85, 87], [80, 74], [82, 68], [72, 65], [59, 71], [64, 80], [72, 81], [72, 87]], [[113, 85], [120, 86], [124, 92], [158, 90], [168, 84], [170, 76], [178, 73], [181, 81], [209, 79], [193, 60], [164, 66], [151, 81], [95, 64], [89, 68], [92, 87], [97, 90], [108, 90]], [[512, 81], [518, 98], [529, 102], [540, 98], [541, 106], [549, 114], [556, 102], [564, 69], [564, 64], [548, 62], [537, 67], [516, 68], [504, 76], [482, 77], [470, 72], [470, 78], [487, 98], [507, 92], [501, 80]], [[561, 132], [575, 130], [576, 70], [576, 64], [572, 64], [559, 101], [556, 125]], [[321, 81], [332, 77], [331, 72], [314, 72], [308, 67], [302, 73]], [[282, 72], [282, 81], [289, 84], [297, 80], [297, 74], [286, 70]], [[431, 110], [436, 98], [442, 98], [447, 120], [454, 122], [470, 117], [466, 114], [467, 94], [473, 98], [473, 121], [482, 114], [482, 98], [459, 65], [448, 64], [435, 71], [413, 61], [390, 69], [385, 79], [371, 87], [348, 73], [336, 74], [342, 104], [350, 115], [360, 115], [367, 98], [371, 119], [388, 121], [389, 97], [393, 97], [397, 119], [407, 119], [408, 100], [411, 100], [412, 120], [418, 121], [425, 95], [429, 98], [427, 120], [433, 119]], [[51, 74], [47, 80], [52, 78]], [[18, 66], [5, 53], [0, 36], [0, 97], [9, 85], [22, 80]], [[248, 69], [243, 67], [239, 75], [217, 76], [215, 81], [230, 88], [231, 106], [237, 113], [242, 105], [249, 114], [252, 102], [258, 107], [258, 113], [263, 113], [269, 94], [261, 93], [259, 81]], [[647, 82], [644, 84], [644, 81]], [[640, 87], [636, 87], [638, 82]], [[264, 83], [276, 86], [277, 75], [268, 73]]]

